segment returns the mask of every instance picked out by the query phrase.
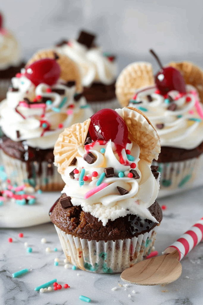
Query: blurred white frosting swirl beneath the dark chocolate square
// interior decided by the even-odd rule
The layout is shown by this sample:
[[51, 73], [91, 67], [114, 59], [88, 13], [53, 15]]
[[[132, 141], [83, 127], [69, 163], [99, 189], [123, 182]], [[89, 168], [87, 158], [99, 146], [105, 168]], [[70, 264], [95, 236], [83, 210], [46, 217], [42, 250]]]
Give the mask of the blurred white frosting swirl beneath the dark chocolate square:
[[117, 76], [117, 63], [103, 56], [100, 47], [88, 49], [75, 40], [56, 48], [57, 52], [65, 54], [78, 64], [82, 74], [82, 85], [90, 86], [93, 82], [109, 85]]

